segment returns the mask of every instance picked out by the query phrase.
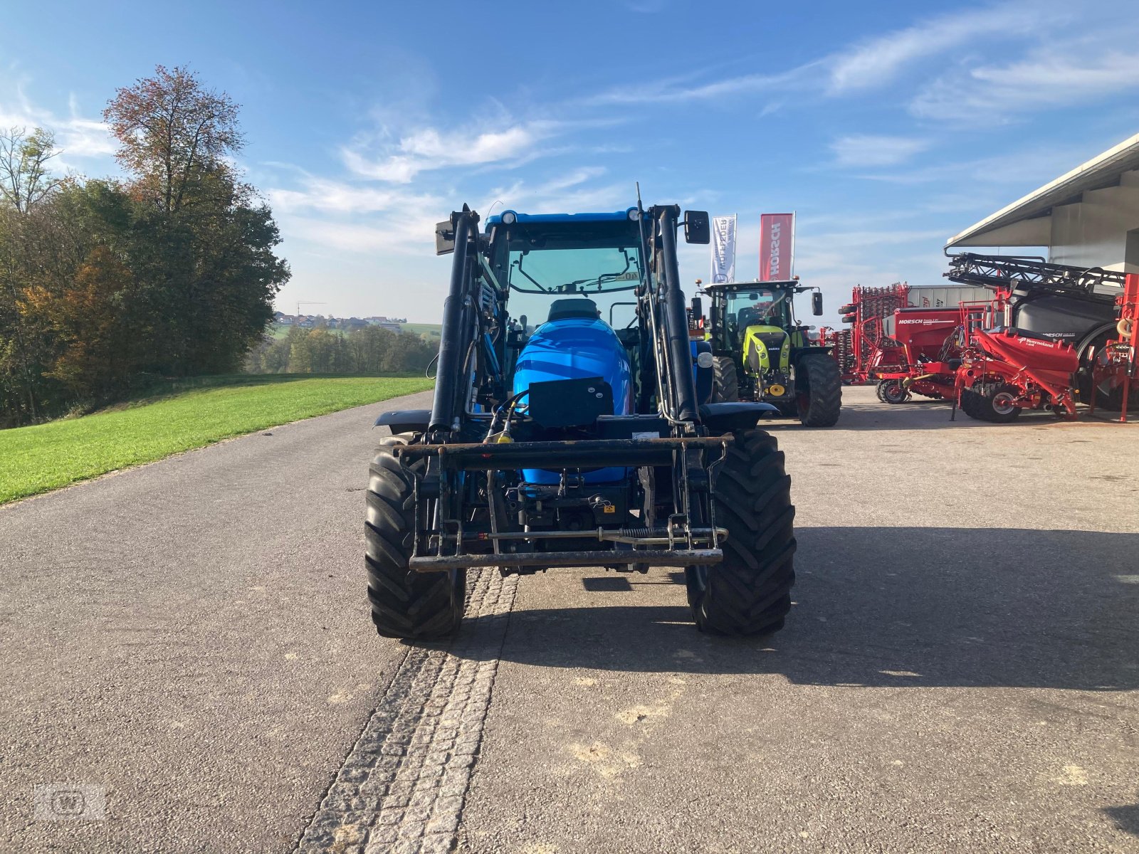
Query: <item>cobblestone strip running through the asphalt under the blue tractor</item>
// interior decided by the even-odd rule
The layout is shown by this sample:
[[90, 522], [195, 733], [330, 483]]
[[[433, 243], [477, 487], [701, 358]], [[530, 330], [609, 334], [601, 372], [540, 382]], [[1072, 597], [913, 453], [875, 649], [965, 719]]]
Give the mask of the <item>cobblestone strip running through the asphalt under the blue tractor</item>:
[[297, 845], [298, 854], [442, 854], [456, 841], [517, 576], [469, 572], [449, 646], [404, 658]]

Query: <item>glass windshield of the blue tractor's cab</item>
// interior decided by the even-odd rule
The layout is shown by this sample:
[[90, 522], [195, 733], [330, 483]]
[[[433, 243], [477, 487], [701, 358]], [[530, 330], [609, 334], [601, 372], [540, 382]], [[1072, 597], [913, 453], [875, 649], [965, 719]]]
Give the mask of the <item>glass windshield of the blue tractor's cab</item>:
[[633, 317], [631, 293], [641, 279], [642, 258], [634, 223], [590, 228], [558, 225], [511, 229], [497, 253], [495, 266], [505, 273], [510, 314], [527, 315], [541, 323], [555, 299], [585, 297], [613, 326], [625, 326]]

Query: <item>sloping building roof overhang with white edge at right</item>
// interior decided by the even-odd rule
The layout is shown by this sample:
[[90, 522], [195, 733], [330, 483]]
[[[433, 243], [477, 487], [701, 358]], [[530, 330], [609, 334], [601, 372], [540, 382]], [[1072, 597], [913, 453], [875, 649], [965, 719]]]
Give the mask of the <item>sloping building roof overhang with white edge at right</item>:
[[[1114, 187], [1124, 172], [1134, 169], [1139, 169], [1139, 133], [954, 235], [945, 248], [1047, 246], [1052, 207], [1079, 202], [1088, 190]], [[998, 230], [1000, 233], [994, 233]]]

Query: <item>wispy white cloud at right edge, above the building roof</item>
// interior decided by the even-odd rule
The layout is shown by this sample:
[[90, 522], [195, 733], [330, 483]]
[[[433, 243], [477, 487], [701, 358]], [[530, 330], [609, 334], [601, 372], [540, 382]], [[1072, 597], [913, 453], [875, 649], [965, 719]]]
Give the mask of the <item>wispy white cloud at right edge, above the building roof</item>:
[[923, 118], [1001, 121], [1018, 113], [1087, 104], [1139, 89], [1139, 56], [1040, 48], [1008, 65], [939, 77], [910, 105]]

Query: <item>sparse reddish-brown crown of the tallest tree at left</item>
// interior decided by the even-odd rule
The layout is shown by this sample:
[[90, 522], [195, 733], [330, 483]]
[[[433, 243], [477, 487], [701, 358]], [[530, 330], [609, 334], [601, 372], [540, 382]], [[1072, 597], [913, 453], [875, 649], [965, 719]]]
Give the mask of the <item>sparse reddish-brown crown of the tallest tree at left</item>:
[[237, 105], [205, 89], [182, 66], [155, 66], [154, 76], [118, 89], [103, 112], [118, 140], [118, 162], [166, 213], [195, 202], [210, 175], [228, 175], [227, 155], [241, 150]]

